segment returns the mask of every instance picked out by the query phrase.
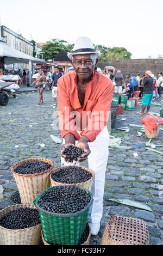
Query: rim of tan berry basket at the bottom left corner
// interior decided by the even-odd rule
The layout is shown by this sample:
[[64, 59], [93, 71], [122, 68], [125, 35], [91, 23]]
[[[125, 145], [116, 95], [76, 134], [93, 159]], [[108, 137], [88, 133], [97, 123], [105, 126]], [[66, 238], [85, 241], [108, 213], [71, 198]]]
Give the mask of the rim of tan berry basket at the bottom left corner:
[[[5, 210], [9, 209], [10, 211], [14, 211], [14, 210], [18, 210], [18, 209], [20, 209], [20, 208], [33, 208], [33, 209], [37, 209], [37, 208], [36, 208], [34, 205], [32, 205], [32, 204], [15, 204], [15, 205], [9, 205], [9, 206], [5, 207], [4, 209], [2, 209], [2, 210], [0, 211], [0, 220], [1, 220], [1, 214], [2, 214]], [[10, 212], [10, 211], [9, 211], [9, 212]], [[41, 223], [40, 223], [40, 224], [37, 224], [37, 225], [35, 225], [35, 226], [33, 226], [33, 227], [30, 227], [30, 228], [22, 228], [22, 229], [4, 228], [4, 227], [2, 227], [2, 225], [0, 225], [0, 230], [8, 230], [8, 231], [11, 231], [11, 232], [18, 233], [18, 232], [22, 232], [22, 231], [27, 231], [27, 230], [29, 230], [29, 229], [32, 230], [32, 229], [35, 229], [35, 228], [39, 228], [40, 225], [41, 225]]]

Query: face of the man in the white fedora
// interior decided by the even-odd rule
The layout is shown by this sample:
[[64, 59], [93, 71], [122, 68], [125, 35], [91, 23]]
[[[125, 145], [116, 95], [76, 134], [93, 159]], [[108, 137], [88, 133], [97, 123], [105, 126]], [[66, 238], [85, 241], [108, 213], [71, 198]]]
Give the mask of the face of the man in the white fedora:
[[86, 79], [92, 75], [95, 65], [97, 64], [97, 59], [95, 54], [79, 54], [73, 56], [71, 64], [77, 76]]

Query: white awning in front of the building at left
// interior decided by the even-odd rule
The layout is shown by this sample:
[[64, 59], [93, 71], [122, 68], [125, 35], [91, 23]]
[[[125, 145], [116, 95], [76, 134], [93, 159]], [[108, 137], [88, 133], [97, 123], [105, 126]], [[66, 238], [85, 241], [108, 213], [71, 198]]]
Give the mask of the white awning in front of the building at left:
[[0, 56], [4, 57], [4, 64], [14, 64], [14, 63], [29, 63], [31, 60], [32, 63], [46, 63], [42, 59], [37, 59], [32, 56], [29, 56], [26, 53], [19, 52], [6, 44], [5, 42], [0, 41]]

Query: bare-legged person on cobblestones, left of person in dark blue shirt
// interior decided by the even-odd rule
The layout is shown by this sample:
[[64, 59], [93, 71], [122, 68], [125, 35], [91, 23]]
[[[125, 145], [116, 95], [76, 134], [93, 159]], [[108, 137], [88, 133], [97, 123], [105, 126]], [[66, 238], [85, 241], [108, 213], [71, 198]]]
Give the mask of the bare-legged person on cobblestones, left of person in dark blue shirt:
[[43, 74], [43, 70], [39, 70], [39, 76], [37, 77], [36, 81], [31, 84], [34, 87], [35, 83], [37, 83], [37, 88], [39, 90], [39, 105], [43, 104], [43, 89], [45, 88], [45, 84], [47, 86], [46, 76]]

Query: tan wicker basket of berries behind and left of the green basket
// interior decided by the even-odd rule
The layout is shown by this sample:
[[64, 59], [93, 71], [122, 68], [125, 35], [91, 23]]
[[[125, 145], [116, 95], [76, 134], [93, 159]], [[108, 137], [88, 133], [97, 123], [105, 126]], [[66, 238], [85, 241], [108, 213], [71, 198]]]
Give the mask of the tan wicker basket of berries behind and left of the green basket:
[[[45, 170], [45, 172], [34, 174], [18, 174], [15, 172], [15, 168], [21, 166], [23, 163], [31, 161], [43, 161], [51, 164], [51, 168]], [[32, 204], [34, 199], [51, 184], [49, 175], [54, 168], [54, 163], [51, 160], [43, 158], [31, 158], [22, 160], [15, 163], [11, 167], [11, 172], [17, 183], [17, 188], [20, 193], [22, 204]]]

